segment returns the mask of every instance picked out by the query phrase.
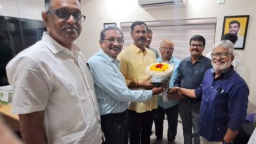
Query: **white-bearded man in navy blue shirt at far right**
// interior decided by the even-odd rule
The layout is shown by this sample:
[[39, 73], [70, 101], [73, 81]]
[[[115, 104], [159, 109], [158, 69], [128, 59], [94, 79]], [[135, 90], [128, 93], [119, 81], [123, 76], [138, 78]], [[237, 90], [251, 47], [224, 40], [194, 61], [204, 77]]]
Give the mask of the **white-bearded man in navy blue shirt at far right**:
[[[245, 121], [249, 89], [231, 65], [234, 45], [221, 41], [213, 45], [212, 69], [206, 71], [202, 84], [195, 90], [171, 88], [169, 98], [177, 92], [202, 99], [200, 108], [200, 139], [204, 143], [231, 143]], [[176, 95], [176, 96], [175, 96]], [[176, 98], [175, 98], [176, 99]]]

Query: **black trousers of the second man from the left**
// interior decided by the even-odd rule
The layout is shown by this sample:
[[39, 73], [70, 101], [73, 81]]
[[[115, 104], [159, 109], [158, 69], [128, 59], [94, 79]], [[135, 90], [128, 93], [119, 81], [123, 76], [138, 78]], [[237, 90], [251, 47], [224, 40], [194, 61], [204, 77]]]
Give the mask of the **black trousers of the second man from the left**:
[[128, 111], [102, 115], [101, 127], [106, 141], [102, 144], [128, 144], [129, 126]]

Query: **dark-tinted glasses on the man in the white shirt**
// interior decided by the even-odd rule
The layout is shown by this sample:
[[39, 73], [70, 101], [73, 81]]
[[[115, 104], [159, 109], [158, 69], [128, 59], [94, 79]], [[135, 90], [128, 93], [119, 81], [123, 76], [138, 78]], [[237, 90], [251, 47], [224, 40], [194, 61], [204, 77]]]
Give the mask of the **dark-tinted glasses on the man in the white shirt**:
[[70, 13], [66, 9], [48, 10], [47, 13], [53, 13], [56, 16], [58, 16], [58, 18], [61, 18], [64, 20], [68, 20], [68, 18], [70, 18], [70, 15], [72, 15], [76, 22], [83, 22], [85, 21], [85, 18], [86, 18], [86, 16], [83, 16], [79, 11]]

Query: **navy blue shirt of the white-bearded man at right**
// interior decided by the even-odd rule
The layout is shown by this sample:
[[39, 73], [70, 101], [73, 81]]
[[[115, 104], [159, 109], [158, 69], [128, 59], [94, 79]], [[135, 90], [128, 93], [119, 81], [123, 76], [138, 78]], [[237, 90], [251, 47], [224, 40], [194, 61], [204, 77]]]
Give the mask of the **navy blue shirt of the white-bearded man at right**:
[[221, 141], [228, 128], [240, 130], [245, 121], [249, 88], [233, 67], [215, 79], [214, 69], [206, 71], [195, 90], [202, 99], [200, 135], [208, 141]]

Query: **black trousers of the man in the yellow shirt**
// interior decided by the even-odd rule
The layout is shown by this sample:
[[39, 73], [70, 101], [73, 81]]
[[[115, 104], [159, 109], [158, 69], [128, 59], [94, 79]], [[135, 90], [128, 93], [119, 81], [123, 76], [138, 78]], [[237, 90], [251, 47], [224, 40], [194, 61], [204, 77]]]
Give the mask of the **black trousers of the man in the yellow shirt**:
[[150, 144], [150, 135], [156, 109], [137, 113], [129, 110], [130, 144]]

